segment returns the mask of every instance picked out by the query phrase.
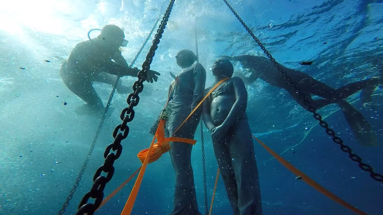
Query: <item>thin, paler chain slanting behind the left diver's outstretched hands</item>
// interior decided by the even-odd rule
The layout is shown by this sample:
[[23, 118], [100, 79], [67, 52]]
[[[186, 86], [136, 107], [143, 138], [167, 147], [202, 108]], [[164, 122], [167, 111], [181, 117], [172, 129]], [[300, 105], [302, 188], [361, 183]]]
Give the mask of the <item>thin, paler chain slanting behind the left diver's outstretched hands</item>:
[[[155, 21], [155, 24], [154, 24], [154, 26], [153, 26], [153, 28], [152, 28], [150, 34], [147, 36], [145, 42], [142, 44], [141, 48], [140, 48], [139, 51], [137, 52], [136, 57], [134, 57], [133, 61], [132, 61], [131, 64], [129, 65], [129, 68], [132, 68], [132, 67], [133, 67], [133, 64], [136, 62], [138, 56], [141, 54], [142, 49], [144, 49], [144, 47], [145, 47], [147, 41], [149, 41], [149, 39], [150, 39], [150, 37], [151, 37], [151, 35], [152, 35], [152, 33], [153, 33], [155, 27], [156, 27], [157, 24], [158, 24], [159, 19], [160, 19], [160, 18], [158, 18], [157, 21]], [[92, 155], [93, 149], [94, 149], [94, 147], [95, 147], [95, 145], [96, 145], [96, 142], [97, 142], [97, 139], [98, 139], [98, 136], [100, 135], [102, 126], [103, 126], [104, 121], [105, 121], [106, 113], [107, 113], [108, 110], [109, 110], [110, 103], [111, 103], [111, 101], [112, 101], [113, 95], [115, 94], [116, 87], [117, 87], [117, 84], [118, 84], [119, 79], [120, 79], [120, 77], [117, 77], [116, 82], [115, 82], [115, 84], [113, 85], [113, 89], [112, 89], [112, 91], [111, 91], [111, 93], [110, 93], [108, 103], [106, 104], [106, 107], [105, 107], [103, 116], [102, 116], [102, 118], [101, 118], [100, 124], [98, 125], [98, 129], [97, 129], [96, 135], [95, 135], [95, 137], [93, 138], [92, 145], [90, 146], [90, 149], [89, 149], [89, 151], [88, 151], [88, 155], [87, 155], [87, 157], [85, 158], [85, 161], [84, 161], [84, 163], [83, 163], [83, 165], [82, 165], [81, 171], [80, 171], [79, 175], [77, 176], [76, 181], [75, 181], [75, 183], [74, 183], [72, 189], [70, 190], [69, 195], [67, 196], [67, 199], [65, 200], [64, 204], [62, 205], [61, 210], [59, 211], [59, 215], [64, 214], [66, 208], [67, 208], [68, 205], [69, 205], [70, 200], [73, 198], [73, 195], [74, 195], [74, 193], [76, 192], [77, 187], [79, 186], [79, 183], [80, 183], [80, 181], [81, 181], [81, 179], [82, 179], [82, 176], [83, 176], [83, 174], [84, 174], [84, 171], [85, 171], [85, 169], [87, 168], [87, 165], [88, 165], [88, 162], [89, 162], [90, 155]]]

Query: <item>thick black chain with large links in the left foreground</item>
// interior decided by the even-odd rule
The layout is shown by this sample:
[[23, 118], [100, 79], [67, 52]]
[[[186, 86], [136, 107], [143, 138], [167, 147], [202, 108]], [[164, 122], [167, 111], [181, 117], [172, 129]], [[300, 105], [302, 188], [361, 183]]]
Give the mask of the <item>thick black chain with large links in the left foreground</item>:
[[[139, 93], [141, 93], [144, 89], [144, 85], [142, 83], [146, 80], [147, 71], [150, 69], [150, 64], [152, 63], [153, 57], [155, 55], [155, 50], [157, 50], [160, 38], [164, 33], [164, 29], [167, 21], [169, 20], [169, 15], [172, 11], [174, 2], [175, 0], [170, 0], [169, 6], [167, 7], [165, 14], [162, 17], [162, 21], [160, 23], [159, 29], [157, 30], [157, 34], [155, 34], [155, 39], [153, 40], [152, 46], [146, 55], [146, 60], [142, 64], [141, 71], [139, 71], [137, 74], [138, 80], [133, 84], [134, 93], [129, 94], [128, 98], [126, 99], [129, 106], [128, 108], [124, 108], [121, 111], [120, 118], [123, 122], [115, 127], [112, 134], [115, 140], [113, 143], [108, 145], [108, 147], [106, 147], [104, 152], [104, 164], [97, 169], [95, 175], [93, 176], [93, 186], [90, 191], [87, 192], [87, 194], [85, 194], [82, 198], [79, 204], [79, 210], [77, 211], [76, 215], [84, 215], [85, 213], [88, 215], [93, 215], [95, 210], [100, 207], [100, 204], [104, 198], [104, 189], [106, 183], [112, 179], [115, 172], [113, 164], [115, 160], [121, 156], [122, 153], [123, 147], [121, 145], [121, 140], [124, 140], [126, 137], [128, 137], [129, 126], [127, 124], [134, 119], [135, 112], [133, 108], [139, 103]], [[110, 152], [110, 150], [116, 151], [116, 154]], [[101, 176], [102, 172], [108, 173], [107, 176]], [[95, 199], [94, 204], [88, 203], [90, 198]]]

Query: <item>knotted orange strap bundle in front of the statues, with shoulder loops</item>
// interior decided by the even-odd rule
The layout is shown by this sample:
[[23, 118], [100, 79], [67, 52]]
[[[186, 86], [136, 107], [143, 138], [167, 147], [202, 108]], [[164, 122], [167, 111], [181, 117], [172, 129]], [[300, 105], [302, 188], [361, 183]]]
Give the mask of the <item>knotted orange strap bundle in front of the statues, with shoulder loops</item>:
[[[224, 78], [223, 80], [219, 81], [215, 86], [213, 86], [210, 89], [210, 91], [206, 94], [206, 96], [200, 101], [200, 103], [198, 103], [198, 105], [193, 109], [193, 111], [191, 111], [189, 116], [176, 129], [176, 132], [190, 118], [190, 116], [196, 111], [196, 109], [198, 109], [201, 106], [203, 101], [205, 101], [205, 99], [208, 98], [208, 96], [211, 94], [211, 92], [213, 92], [221, 83], [223, 83], [224, 81], [226, 81], [228, 79], [229, 78]], [[177, 79], [175, 80], [175, 82], [176, 81], [177, 81]], [[175, 85], [175, 82], [174, 82], [174, 85]], [[171, 93], [174, 85], [172, 85], [170, 93]], [[169, 102], [170, 93], [168, 95], [167, 103]], [[166, 103], [166, 105], [167, 105], [167, 103]], [[165, 108], [166, 108], [166, 106], [165, 106]], [[190, 140], [190, 139], [186, 139], [186, 138], [177, 138], [177, 137], [176, 137], [176, 139], [173, 139], [174, 137], [165, 138], [164, 134], [165, 134], [164, 133], [164, 121], [162, 119], [160, 119], [159, 126], [157, 127], [157, 131], [155, 132], [155, 135], [153, 137], [153, 140], [152, 140], [150, 147], [146, 150], [141, 151], [137, 155], [140, 158], [141, 162], [143, 160], [142, 167], [141, 167], [141, 170], [140, 170], [138, 177], [136, 179], [136, 183], [134, 184], [133, 189], [129, 195], [128, 201], [126, 202], [125, 207], [124, 207], [123, 211], [121, 212], [121, 215], [130, 215], [130, 213], [132, 212], [133, 205], [134, 205], [134, 202], [136, 201], [136, 197], [137, 197], [138, 191], [140, 189], [141, 182], [142, 182], [142, 179], [144, 177], [144, 173], [145, 173], [145, 170], [146, 170], [146, 167], [147, 167], [147, 164], [149, 163], [149, 161], [153, 162], [155, 160], [158, 160], [158, 158], [160, 158], [163, 153], [165, 153], [166, 151], [169, 151], [170, 145], [167, 145], [167, 144], [169, 144], [170, 141], [178, 141], [178, 142], [186, 142], [186, 143], [191, 143], [191, 142], [195, 143], [196, 142], [195, 140]], [[156, 138], [158, 141], [156, 143], [156, 145], [157, 145], [156, 150], [157, 151], [153, 153], [154, 141]], [[180, 140], [182, 140], [182, 141], [180, 141]], [[193, 143], [191, 143], [191, 144], [193, 144]], [[150, 156], [148, 156], [148, 155], [150, 155]], [[151, 158], [151, 156], [152, 156], [152, 158]]]

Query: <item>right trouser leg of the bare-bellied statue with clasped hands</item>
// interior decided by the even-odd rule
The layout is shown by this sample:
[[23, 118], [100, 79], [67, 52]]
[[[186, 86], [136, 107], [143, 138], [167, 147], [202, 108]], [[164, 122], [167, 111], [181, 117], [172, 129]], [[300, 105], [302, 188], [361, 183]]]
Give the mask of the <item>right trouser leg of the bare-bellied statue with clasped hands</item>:
[[237, 181], [240, 215], [262, 215], [258, 168], [247, 119], [233, 125], [229, 147]]

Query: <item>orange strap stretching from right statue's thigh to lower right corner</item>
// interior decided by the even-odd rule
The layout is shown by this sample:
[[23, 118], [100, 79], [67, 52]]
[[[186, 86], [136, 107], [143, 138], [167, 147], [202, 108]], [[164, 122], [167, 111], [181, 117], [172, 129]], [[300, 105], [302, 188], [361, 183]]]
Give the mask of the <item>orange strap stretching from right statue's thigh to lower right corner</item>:
[[[254, 137], [254, 135], [252, 135]], [[343, 207], [352, 210], [353, 212], [359, 214], [359, 215], [367, 215], [367, 213], [359, 210], [358, 208], [355, 208], [354, 206], [348, 204], [344, 200], [340, 199], [336, 195], [332, 194], [330, 191], [327, 191], [324, 187], [319, 185], [317, 182], [313, 181], [313, 179], [309, 178], [307, 175], [299, 171], [295, 166], [288, 163], [285, 159], [283, 159], [280, 155], [275, 153], [273, 150], [267, 147], [265, 143], [262, 143], [260, 140], [258, 140], [256, 137], [254, 137], [257, 142], [259, 142], [260, 145], [262, 145], [274, 158], [276, 158], [280, 163], [282, 163], [283, 166], [288, 168], [292, 173], [294, 173], [296, 176], [301, 176], [302, 180], [309, 184], [311, 187], [316, 189], [317, 191], [321, 192], [323, 195], [326, 195], [328, 198], [334, 200], [338, 204], [342, 205]]]

